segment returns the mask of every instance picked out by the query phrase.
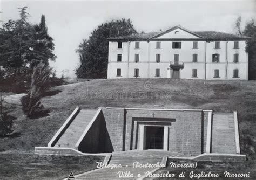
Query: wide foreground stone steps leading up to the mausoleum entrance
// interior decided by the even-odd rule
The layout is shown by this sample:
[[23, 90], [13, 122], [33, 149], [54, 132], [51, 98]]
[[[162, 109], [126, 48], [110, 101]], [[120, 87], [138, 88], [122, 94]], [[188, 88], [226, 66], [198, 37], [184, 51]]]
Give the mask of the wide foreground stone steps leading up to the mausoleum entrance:
[[[164, 156], [179, 155], [171, 151], [154, 151], [154, 150], [131, 150], [113, 152], [109, 164], [122, 164], [122, 168], [100, 168], [84, 175], [78, 176], [76, 179], [137, 179], [138, 174], [143, 176], [147, 171], [152, 171], [156, 168], [133, 168], [134, 162], [140, 164], [161, 164]], [[118, 172], [129, 172], [133, 177], [119, 177]]]

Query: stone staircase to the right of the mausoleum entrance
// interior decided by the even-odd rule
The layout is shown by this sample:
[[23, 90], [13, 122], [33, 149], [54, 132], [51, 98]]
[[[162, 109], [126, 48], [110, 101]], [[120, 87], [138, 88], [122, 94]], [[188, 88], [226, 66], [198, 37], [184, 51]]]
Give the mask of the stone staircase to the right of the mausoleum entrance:
[[236, 154], [233, 113], [213, 114], [212, 153]]

